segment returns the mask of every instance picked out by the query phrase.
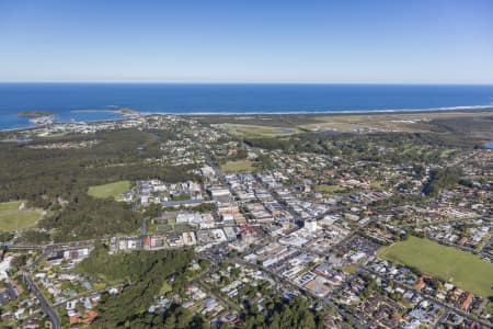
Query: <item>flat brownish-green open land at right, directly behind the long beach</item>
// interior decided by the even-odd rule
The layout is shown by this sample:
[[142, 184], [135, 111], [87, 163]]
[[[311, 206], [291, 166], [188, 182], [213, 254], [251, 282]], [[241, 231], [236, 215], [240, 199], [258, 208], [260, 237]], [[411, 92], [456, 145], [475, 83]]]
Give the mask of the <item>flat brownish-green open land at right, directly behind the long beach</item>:
[[303, 131], [461, 133], [485, 141], [493, 139], [493, 107], [480, 110], [410, 111], [334, 114], [252, 114], [193, 116], [221, 125], [239, 136], [278, 137]]

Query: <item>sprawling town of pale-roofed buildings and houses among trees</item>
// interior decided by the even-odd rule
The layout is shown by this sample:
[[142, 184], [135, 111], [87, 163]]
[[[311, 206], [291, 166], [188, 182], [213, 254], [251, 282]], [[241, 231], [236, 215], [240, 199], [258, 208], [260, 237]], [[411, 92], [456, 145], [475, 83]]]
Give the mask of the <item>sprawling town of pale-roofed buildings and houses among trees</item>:
[[[2, 227], [2, 326], [104, 328], [145, 284], [137, 268], [163, 254], [183, 266], [139, 290], [138, 316], [118, 326], [264, 328], [289, 311], [306, 314], [299, 328], [493, 327], [491, 149], [408, 128], [261, 124], [138, 115], [2, 133], [26, 161], [83, 155], [59, 181], [85, 193], [0, 195], [0, 223], [16, 216]], [[94, 168], [100, 183], [77, 178]]]

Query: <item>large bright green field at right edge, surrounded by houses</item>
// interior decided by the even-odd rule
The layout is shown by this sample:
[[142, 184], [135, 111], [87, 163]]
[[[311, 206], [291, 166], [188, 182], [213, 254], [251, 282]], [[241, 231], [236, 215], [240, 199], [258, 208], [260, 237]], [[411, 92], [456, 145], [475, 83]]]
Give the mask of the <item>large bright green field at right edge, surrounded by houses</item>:
[[479, 256], [412, 236], [405, 241], [380, 248], [378, 254], [449, 281], [473, 294], [483, 297], [493, 295], [493, 264]]

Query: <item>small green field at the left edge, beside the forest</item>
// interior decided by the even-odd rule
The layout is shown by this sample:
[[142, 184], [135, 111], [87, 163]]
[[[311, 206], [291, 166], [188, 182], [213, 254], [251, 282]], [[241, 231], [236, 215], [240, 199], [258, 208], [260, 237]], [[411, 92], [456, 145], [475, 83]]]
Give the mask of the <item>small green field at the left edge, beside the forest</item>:
[[0, 231], [10, 231], [21, 228], [33, 227], [42, 217], [41, 211], [24, 209], [19, 206], [22, 201], [0, 203]]

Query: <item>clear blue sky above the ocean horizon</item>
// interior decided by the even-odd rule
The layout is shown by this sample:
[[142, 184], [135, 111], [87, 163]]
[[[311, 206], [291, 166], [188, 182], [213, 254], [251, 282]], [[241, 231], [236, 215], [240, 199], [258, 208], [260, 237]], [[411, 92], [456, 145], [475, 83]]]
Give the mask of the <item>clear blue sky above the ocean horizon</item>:
[[0, 81], [493, 83], [493, 1], [0, 0]]

